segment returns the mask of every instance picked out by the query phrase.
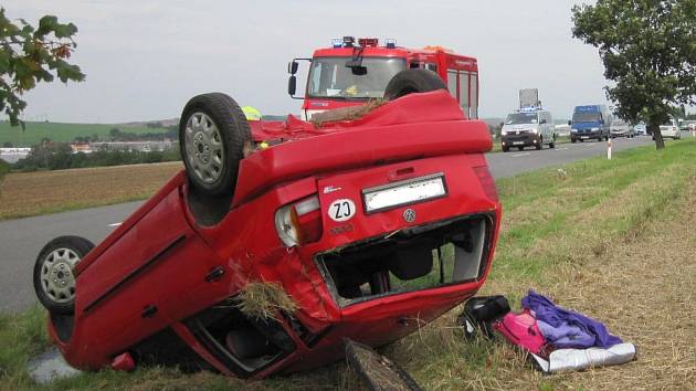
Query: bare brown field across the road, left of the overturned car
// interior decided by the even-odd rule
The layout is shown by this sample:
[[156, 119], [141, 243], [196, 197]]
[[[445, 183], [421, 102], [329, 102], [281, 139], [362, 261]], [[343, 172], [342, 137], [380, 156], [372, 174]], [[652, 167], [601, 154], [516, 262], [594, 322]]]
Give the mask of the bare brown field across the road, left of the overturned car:
[[145, 199], [181, 162], [9, 173], [0, 182], [0, 220]]

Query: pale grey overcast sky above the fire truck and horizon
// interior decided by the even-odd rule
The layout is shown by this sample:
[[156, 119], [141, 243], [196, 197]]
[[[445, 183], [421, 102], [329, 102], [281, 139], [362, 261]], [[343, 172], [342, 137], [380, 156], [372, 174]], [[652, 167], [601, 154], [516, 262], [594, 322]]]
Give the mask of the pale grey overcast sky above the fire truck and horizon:
[[342, 35], [442, 45], [478, 59], [482, 117], [537, 87], [556, 117], [605, 103], [594, 47], [571, 36], [573, 0], [172, 1], [4, 0], [6, 15], [43, 14], [80, 29], [72, 60], [83, 83], [41, 84], [24, 118], [119, 123], [178, 117], [188, 98], [220, 91], [263, 114], [299, 113], [287, 62]]

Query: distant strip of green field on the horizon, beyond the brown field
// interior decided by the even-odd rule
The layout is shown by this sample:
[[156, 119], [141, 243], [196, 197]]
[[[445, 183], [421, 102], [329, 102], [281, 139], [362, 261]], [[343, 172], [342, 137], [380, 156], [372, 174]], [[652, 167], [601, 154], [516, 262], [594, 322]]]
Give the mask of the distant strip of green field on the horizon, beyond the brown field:
[[118, 124], [61, 124], [61, 123], [30, 123], [25, 124], [25, 130], [21, 126], [10, 126], [7, 120], [0, 121], [0, 146], [12, 142], [15, 147], [31, 147], [39, 144], [44, 137], [53, 141], [72, 141], [75, 137], [97, 135], [99, 138], [108, 137], [113, 128], [119, 128], [128, 133], [159, 133], [166, 129], [148, 128], [146, 126], [122, 126]]

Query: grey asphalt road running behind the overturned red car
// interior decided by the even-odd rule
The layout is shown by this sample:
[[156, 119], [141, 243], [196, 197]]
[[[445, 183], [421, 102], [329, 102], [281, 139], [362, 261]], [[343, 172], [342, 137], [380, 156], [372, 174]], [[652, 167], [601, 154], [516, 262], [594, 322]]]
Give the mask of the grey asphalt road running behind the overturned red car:
[[[653, 142], [650, 137], [616, 139], [613, 150]], [[607, 154], [605, 142], [561, 144], [556, 149], [489, 154], [487, 160], [495, 178], [510, 177], [549, 166], [560, 166]], [[35, 218], [0, 222], [0, 313], [18, 311], [36, 300], [32, 286], [32, 268], [41, 247], [60, 235], [80, 235], [95, 244], [140, 202], [92, 208]]]

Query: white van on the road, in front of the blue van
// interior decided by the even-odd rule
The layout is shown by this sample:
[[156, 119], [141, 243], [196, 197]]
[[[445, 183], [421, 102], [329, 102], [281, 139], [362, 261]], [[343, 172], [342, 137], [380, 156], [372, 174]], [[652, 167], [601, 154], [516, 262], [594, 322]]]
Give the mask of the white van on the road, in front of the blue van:
[[556, 147], [556, 126], [550, 112], [528, 107], [508, 114], [502, 124], [500, 139], [503, 151], [517, 147], [523, 150], [525, 147], [549, 148]]

